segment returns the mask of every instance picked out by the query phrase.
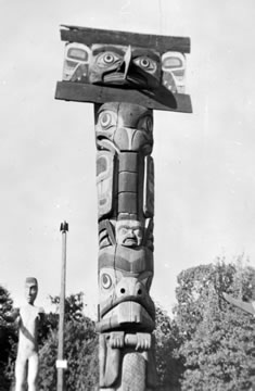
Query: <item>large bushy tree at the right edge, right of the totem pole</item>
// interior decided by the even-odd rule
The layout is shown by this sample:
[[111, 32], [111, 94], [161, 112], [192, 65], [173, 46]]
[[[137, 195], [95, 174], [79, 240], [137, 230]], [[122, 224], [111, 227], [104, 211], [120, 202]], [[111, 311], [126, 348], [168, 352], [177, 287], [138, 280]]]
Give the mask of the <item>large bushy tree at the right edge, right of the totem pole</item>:
[[178, 276], [176, 321], [186, 370], [182, 390], [250, 390], [254, 378], [253, 317], [230, 306], [221, 292], [252, 299], [255, 270], [218, 260]]

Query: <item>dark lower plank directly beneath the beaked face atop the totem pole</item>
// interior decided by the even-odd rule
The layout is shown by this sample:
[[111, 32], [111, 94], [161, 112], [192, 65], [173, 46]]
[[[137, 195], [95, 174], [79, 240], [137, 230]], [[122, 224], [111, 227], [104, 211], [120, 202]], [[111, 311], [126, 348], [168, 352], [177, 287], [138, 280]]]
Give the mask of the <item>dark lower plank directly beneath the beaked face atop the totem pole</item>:
[[191, 99], [189, 94], [175, 93], [173, 96], [176, 101], [175, 105], [173, 104], [173, 101], [158, 102], [153, 98], [153, 96], [149, 97], [138, 90], [95, 86], [84, 83], [58, 81], [55, 90], [55, 99], [60, 100], [90, 103], [115, 101], [140, 104], [153, 110], [192, 113]]

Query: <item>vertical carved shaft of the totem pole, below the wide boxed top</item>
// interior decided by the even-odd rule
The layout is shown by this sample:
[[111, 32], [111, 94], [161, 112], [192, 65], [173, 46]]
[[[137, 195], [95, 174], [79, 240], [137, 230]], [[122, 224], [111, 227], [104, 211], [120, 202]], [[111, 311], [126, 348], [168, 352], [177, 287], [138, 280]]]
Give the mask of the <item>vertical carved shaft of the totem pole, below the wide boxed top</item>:
[[[153, 112], [123, 101], [94, 109], [100, 390], [156, 390], [155, 306], [150, 297], [154, 270]], [[112, 205], [104, 209], [105, 189], [112, 192]]]

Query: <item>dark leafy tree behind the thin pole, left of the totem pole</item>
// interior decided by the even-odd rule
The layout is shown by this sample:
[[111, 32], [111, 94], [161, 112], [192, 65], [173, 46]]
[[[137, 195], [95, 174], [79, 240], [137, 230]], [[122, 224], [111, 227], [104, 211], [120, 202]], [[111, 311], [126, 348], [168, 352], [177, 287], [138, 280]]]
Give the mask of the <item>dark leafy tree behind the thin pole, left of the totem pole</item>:
[[[51, 302], [56, 308], [55, 313], [48, 315], [48, 324], [44, 325], [48, 333], [39, 351], [41, 391], [56, 388], [59, 297], [51, 298]], [[93, 390], [98, 383], [98, 336], [94, 323], [82, 311], [82, 293], [66, 298], [64, 351], [68, 367], [64, 376], [68, 391]]]

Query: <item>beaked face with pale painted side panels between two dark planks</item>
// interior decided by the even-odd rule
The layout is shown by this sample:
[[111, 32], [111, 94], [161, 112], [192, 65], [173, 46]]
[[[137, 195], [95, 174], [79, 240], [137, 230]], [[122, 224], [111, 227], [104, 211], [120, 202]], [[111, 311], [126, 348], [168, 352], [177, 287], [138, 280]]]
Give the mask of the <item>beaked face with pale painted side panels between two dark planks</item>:
[[184, 93], [186, 56], [168, 51], [120, 45], [68, 42], [63, 80], [153, 91], [164, 86]]

